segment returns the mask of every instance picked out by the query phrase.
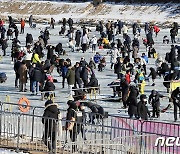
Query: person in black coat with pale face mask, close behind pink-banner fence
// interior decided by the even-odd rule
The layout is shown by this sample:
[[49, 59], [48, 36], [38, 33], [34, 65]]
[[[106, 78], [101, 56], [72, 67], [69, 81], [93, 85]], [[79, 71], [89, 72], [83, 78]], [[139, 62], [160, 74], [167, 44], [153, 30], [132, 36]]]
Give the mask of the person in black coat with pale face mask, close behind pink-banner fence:
[[138, 117], [141, 118], [142, 120], [148, 120], [148, 116], [150, 117], [150, 112], [146, 104], [147, 104], [147, 97], [146, 95], [143, 94], [140, 96], [140, 101], [138, 102], [138, 108], [137, 108]]

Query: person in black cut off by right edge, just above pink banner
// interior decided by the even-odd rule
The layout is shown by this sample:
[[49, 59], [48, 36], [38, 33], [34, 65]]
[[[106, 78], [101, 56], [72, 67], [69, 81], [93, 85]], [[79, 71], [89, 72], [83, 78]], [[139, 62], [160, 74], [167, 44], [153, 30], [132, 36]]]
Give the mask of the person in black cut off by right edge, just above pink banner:
[[177, 121], [177, 108], [180, 110], [180, 87], [177, 87], [171, 94], [174, 105], [174, 120]]

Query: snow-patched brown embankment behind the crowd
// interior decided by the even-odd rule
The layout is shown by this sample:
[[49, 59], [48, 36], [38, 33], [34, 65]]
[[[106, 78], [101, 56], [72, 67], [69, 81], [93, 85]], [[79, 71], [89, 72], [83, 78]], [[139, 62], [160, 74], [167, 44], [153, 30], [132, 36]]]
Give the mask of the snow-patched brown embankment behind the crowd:
[[56, 21], [63, 17], [77, 20], [116, 20], [128, 22], [158, 22], [168, 24], [180, 21], [180, 4], [127, 4], [103, 3], [94, 7], [90, 2], [48, 2], [48, 1], [0, 1], [0, 17], [12, 15], [16, 19], [28, 19], [30, 14], [37, 21], [49, 21], [54, 17]]

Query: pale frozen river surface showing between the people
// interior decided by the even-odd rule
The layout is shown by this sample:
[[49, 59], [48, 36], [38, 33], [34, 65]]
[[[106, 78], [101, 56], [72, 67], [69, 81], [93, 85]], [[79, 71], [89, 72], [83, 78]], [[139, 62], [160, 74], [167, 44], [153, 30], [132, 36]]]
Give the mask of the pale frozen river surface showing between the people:
[[[19, 40], [21, 41], [21, 45], [25, 45], [25, 36], [26, 33], [31, 33], [33, 35], [34, 40], [38, 40], [38, 36], [40, 35], [40, 28], [44, 28], [48, 25], [40, 25], [38, 24], [36, 28], [31, 29], [28, 26], [25, 27], [25, 34], [19, 35]], [[6, 25], [7, 27], [7, 25]], [[77, 29], [80, 29], [80, 27], [76, 27]], [[92, 38], [93, 35], [96, 35], [99, 37], [99, 33], [95, 31], [95, 27], [90, 27], [91, 33], [90, 38]], [[61, 58], [70, 58], [72, 60], [72, 64], [74, 65], [76, 61], [80, 61], [81, 57], [85, 57], [86, 61], [89, 62], [89, 59], [93, 57], [93, 53], [91, 53], [91, 49], [87, 51], [87, 53], [72, 53], [69, 52], [69, 48], [67, 48], [67, 37], [59, 36], [58, 32], [60, 30], [60, 26], [55, 26], [55, 29], [50, 29], [50, 40], [49, 44], [57, 45], [59, 42], [63, 44], [64, 49], [67, 51], [68, 56], [61, 56]], [[128, 34], [132, 37], [132, 29], [129, 30]], [[169, 29], [161, 29], [159, 35], [157, 38], [154, 38], [155, 41], [155, 49], [157, 52], [164, 58], [165, 53], [170, 51], [170, 44], [163, 44], [162, 39], [163, 36], [167, 35], [169, 36]], [[142, 43], [142, 38], [145, 37], [144, 31], [141, 32], [141, 38], [140, 38], [140, 52], [139, 55], [141, 55], [143, 52], [146, 52], [145, 46]], [[117, 38], [121, 38], [122, 36], [117, 36]], [[26, 93], [20, 93], [18, 92], [18, 89], [15, 89], [14, 86], [14, 80], [15, 80], [15, 73], [13, 71], [13, 63], [11, 62], [11, 41], [8, 41], [9, 47], [7, 49], [7, 55], [6, 57], [3, 57], [3, 59], [0, 61], [0, 72], [6, 72], [7, 74], [7, 81], [6, 83], [0, 84], [0, 100], [5, 101], [6, 95], [10, 96], [10, 102], [17, 104], [18, 100], [22, 96], [26, 96], [31, 105], [33, 106], [44, 106], [45, 101], [41, 101], [41, 96], [31, 96], [31, 93], [29, 91], [29, 81], [27, 84], [28, 91]], [[107, 55], [108, 50], [104, 49], [98, 49], [98, 52], [106, 57], [107, 66], [103, 72], [98, 72], [96, 69], [96, 77], [99, 81], [100, 87], [101, 87], [101, 94], [97, 96], [97, 98], [106, 98], [112, 95], [112, 89], [107, 87], [107, 84], [111, 83], [112, 81], [116, 80], [116, 74], [114, 74], [114, 71], [110, 69], [110, 56]], [[2, 54], [2, 53], [1, 53]], [[132, 60], [132, 59], [131, 59]], [[149, 74], [149, 68], [154, 67], [155, 68], [155, 59], [149, 59], [149, 64], [147, 65], [147, 74]], [[62, 89], [62, 78], [59, 76], [59, 74], [54, 70], [53, 77], [58, 80], [58, 83], [55, 83], [56, 86], [56, 97], [55, 102], [59, 104], [59, 107], [61, 109], [67, 109], [66, 102], [68, 101], [68, 85], [66, 84], [65, 88]], [[162, 84], [163, 78], [156, 79], [156, 86], [149, 86], [147, 85], [145, 88], [145, 94], [149, 96], [152, 89], [156, 89], [161, 94], [168, 96], [168, 93], [166, 93], [166, 88]], [[150, 80], [150, 85], [152, 84], [152, 81]], [[167, 98], [161, 99], [161, 109], [166, 107], [168, 105], [169, 100]], [[128, 116], [126, 112], [124, 112], [121, 102], [110, 102], [110, 101], [96, 101], [99, 105], [103, 106], [105, 108], [105, 111], [109, 112], [109, 114], [113, 115], [119, 115], [119, 116]], [[151, 107], [150, 107], [151, 109]], [[17, 107], [13, 107], [12, 111], [17, 111]], [[119, 110], [121, 112], [119, 112]], [[38, 111], [38, 115], [42, 115], [43, 110]], [[173, 118], [173, 110], [168, 110], [167, 113], [161, 113], [161, 117], [159, 120], [167, 120], [172, 121]]]

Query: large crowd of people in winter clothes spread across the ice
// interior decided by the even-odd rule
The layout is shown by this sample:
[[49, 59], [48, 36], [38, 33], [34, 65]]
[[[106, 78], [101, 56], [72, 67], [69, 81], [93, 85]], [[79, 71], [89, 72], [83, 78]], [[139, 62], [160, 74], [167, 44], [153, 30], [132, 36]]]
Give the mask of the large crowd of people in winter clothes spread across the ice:
[[[81, 115], [80, 122], [83, 123], [84, 106], [87, 106], [93, 114], [90, 116], [90, 123], [94, 124], [95, 119], [101, 119], [105, 116], [104, 109], [92, 102], [87, 103], [82, 101], [85, 99], [85, 94], [91, 92], [92, 89], [97, 90], [99, 81], [96, 77], [96, 69], [99, 73], [106, 71], [107, 57], [101, 55], [98, 50], [106, 49], [107, 55], [110, 55], [110, 69], [117, 75], [118, 84], [113, 87], [114, 96], [118, 92], [122, 98], [123, 108], [128, 108], [128, 115], [130, 118], [148, 120], [148, 117], [160, 117], [160, 98], [166, 97], [161, 95], [158, 91], [152, 90], [150, 96], [144, 94], [144, 86], [149, 78], [152, 78], [153, 84], [156, 85], [157, 77], [164, 80], [164, 86], [167, 91], [170, 90], [170, 81], [180, 79], [180, 46], [176, 45], [176, 36], [178, 35], [178, 24], [174, 22], [171, 25], [169, 33], [171, 41], [168, 36], [164, 36], [163, 43], [171, 43], [170, 52], [166, 53], [163, 59], [155, 49], [154, 38], [158, 37], [160, 28], [153, 23], [145, 23], [144, 25], [135, 22], [132, 25], [127, 25], [121, 20], [108, 21], [103, 23], [100, 21], [96, 26], [96, 31], [100, 37], [90, 35], [92, 31], [82, 26], [80, 29], [75, 28], [73, 19], [62, 19], [62, 27], [59, 31], [60, 36], [65, 36], [68, 39], [67, 46], [70, 52], [82, 52], [82, 55], [87, 52], [92, 52], [93, 57], [86, 61], [82, 56], [79, 61], [72, 64], [71, 59], [63, 59], [63, 55], [67, 51], [63, 49], [62, 42], [56, 45], [51, 45], [50, 32], [48, 28], [41, 30], [38, 41], [34, 42], [33, 35], [28, 32], [25, 37], [26, 45], [22, 47], [19, 41], [19, 35], [26, 32], [26, 23], [21, 19], [21, 30], [19, 33], [18, 27], [13, 18], [9, 16], [9, 26], [6, 29], [4, 22], [0, 20], [0, 44], [3, 50], [3, 56], [6, 56], [6, 49], [8, 47], [7, 41], [12, 41], [11, 58], [14, 63], [15, 88], [19, 88], [20, 92], [30, 90], [32, 95], [40, 95], [45, 93], [48, 98], [50, 92], [55, 91], [55, 79], [53, 79], [52, 72], [57, 69], [57, 72], [62, 77], [62, 88], [65, 87], [65, 81], [69, 87], [69, 100], [67, 102], [69, 108], [67, 109], [67, 120], [77, 119]], [[29, 18], [29, 27], [34, 28], [33, 16]], [[132, 36], [129, 35], [129, 29], [132, 27]], [[50, 28], [56, 28], [56, 21], [51, 18]], [[140, 39], [141, 33], [144, 33], [146, 38]], [[7, 33], [6, 33], [7, 32]], [[7, 37], [6, 37], [7, 36]], [[123, 39], [120, 39], [122, 36]], [[146, 48], [147, 52], [140, 54], [140, 42]], [[98, 49], [99, 48], [99, 49]], [[91, 49], [91, 50], [90, 50]], [[98, 49], [98, 50], [97, 50]], [[45, 52], [46, 51], [46, 52]], [[155, 58], [155, 66], [147, 70], [150, 58]], [[148, 74], [148, 72], [150, 72]], [[134, 77], [134, 78], [133, 78]], [[26, 86], [30, 82], [30, 88]], [[180, 109], [180, 88], [177, 87], [172, 92], [172, 101], [174, 104], [174, 117], [177, 120], [177, 107]], [[140, 99], [138, 101], [138, 99]], [[81, 102], [79, 102], [81, 100]], [[151, 115], [147, 104], [152, 105], [153, 114]], [[46, 109], [44, 116], [51, 118], [58, 118], [59, 111], [57, 106], [51, 100], [45, 104]], [[79, 114], [79, 112], [82, 112]], [[42, 121], [45, 124], [46, 122]], [[83, 125], [75, 125], [70, 128], [71, 123], [67, 123], [66, 129], [70, 131], [70, 138], [74, 142], [77, 135], [81, 132], [82, 137], [86, 139], [83, 133]], [[48, 133], [48, 129], [45, 129]], [[54, 140], [54, 133], [51, 136]], [[44, 136], [47, 143], [49, 136]], [[48, 144], [47, 144], [48, 145]], [[48, 145], [49, 149], [54, 145]], [[76, 149], [76, 147], [74, 147]]]

